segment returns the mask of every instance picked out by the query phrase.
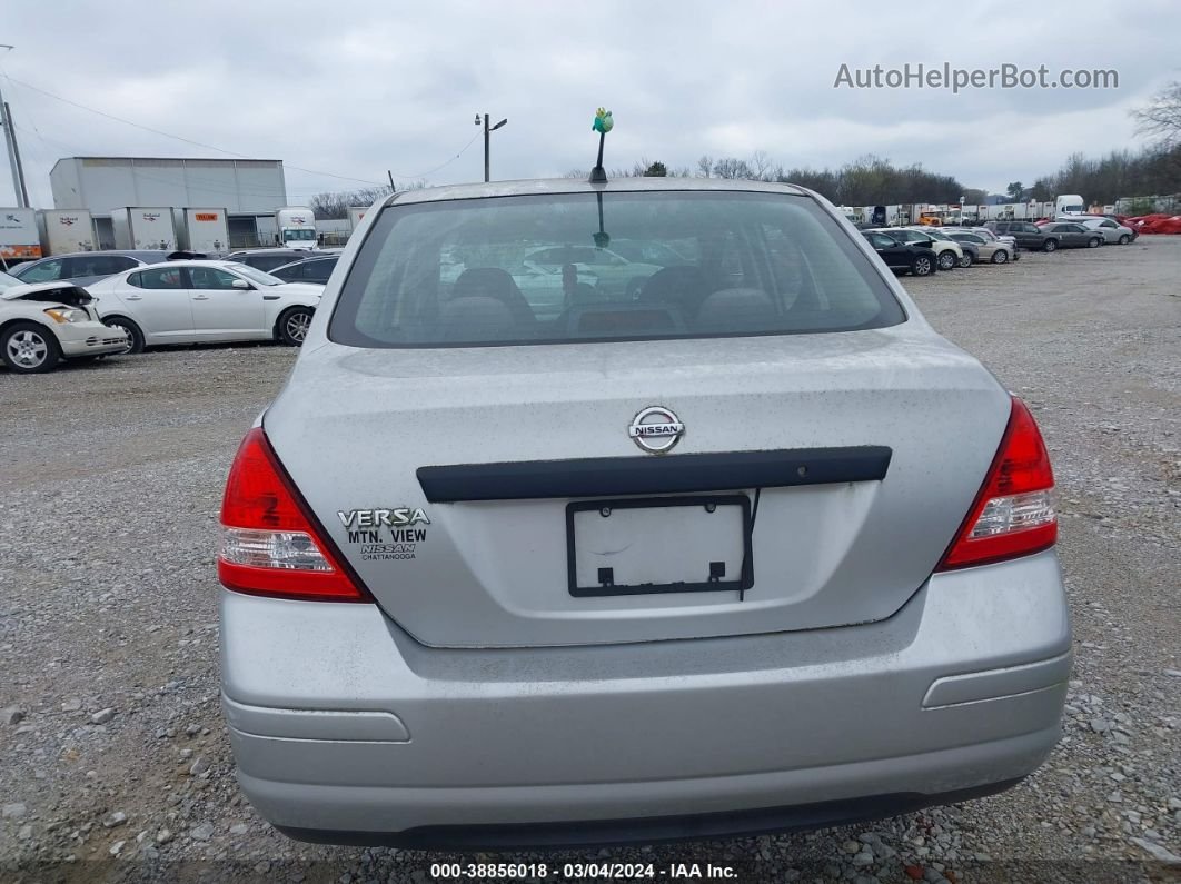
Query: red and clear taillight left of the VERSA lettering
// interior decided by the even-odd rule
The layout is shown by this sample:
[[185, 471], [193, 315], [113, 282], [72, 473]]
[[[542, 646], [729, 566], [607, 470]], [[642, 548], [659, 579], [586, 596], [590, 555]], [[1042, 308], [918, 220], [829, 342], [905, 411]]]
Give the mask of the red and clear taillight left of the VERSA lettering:
[[226, 480], [217, 577], [253, 595], [368, 602], [275, 457], [261, 427], [242, 440]]

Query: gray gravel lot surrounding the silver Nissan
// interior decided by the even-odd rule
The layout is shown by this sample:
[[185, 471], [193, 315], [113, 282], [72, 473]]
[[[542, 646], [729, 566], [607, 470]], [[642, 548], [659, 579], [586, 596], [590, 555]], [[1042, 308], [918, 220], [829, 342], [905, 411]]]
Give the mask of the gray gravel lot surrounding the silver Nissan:
[[[658, 878], [713, 862], [743, 880], [1181, 879], [1181, 237], [906, 286], [1026, 398], [1055, 457], [1077, 662], [1051, 761], [1003, 795], [864, 826], [534, 859], [652, 862]], [[0, 879], [430, 880], [439, 854], [287, 840], [234, 781], [217, 508], [294, 355], [0, 371]]]

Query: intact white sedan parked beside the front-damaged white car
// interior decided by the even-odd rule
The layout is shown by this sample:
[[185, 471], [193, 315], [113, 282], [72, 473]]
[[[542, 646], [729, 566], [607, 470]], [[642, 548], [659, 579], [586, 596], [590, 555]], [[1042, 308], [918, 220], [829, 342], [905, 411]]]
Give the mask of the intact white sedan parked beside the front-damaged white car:
[[169, 261], [90, 287], [98, 314], [130, 335], [128, 352], [169, 343], [304, 342], [324, 286], [283, 282], [234, 261]]

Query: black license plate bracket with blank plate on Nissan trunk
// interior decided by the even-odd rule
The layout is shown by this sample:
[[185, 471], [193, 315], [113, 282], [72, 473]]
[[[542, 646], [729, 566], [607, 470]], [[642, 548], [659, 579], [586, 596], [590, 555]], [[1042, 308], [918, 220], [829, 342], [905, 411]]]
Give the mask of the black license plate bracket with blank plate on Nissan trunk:
[[753, 584], [750, 498], [573, 502], [566, 505], [566, 557], [575, 597], [743, 592]]

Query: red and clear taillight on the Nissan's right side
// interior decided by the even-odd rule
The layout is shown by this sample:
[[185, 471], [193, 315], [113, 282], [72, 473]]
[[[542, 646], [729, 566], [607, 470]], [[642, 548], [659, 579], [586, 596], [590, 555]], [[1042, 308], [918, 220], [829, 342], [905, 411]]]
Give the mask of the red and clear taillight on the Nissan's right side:
[[955, 541], [937, 571], [999, 562], [1049, 549], [1058, 538], [1053, 471], [1033, 415], [1013, 397], [1009, 426]]

